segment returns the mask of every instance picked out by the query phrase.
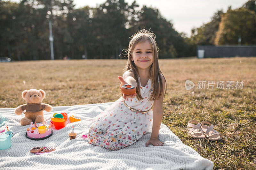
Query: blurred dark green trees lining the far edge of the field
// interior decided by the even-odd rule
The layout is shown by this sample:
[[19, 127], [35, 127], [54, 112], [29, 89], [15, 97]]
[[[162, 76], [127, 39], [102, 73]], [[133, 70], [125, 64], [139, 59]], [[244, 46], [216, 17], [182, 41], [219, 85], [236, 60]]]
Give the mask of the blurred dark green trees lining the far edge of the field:
[[[255, 3], [253, 6], [252, 2], [255, 0], [248, 1], [241, 9], [229, 9], [225, 15], [218, 11], [209, 23], [193, 29], [188, 38], [178, 33], [158, 9], [145, 5], [140, 8], [136, 1], [129, 5], [124, 0], [106, 0], [95, 8], [75, 9], [73, 0], [22, 0], [20, 3], [0, 0], [0, 57], [51, 59], [49, 21], [55, 59], [124, 57], [123, 49], [128, 48], [129, 37], [141, 29], [150, 29], [156, 34], [159, 58], [193, 56], [196, 45], [235, 44], [236, 35], [225, 32], [229, 23], [236, 20], [241, 28], [238, 26], [235, 33], [240, 33], [241, 43], [255, 44], [252, 36], [256, 30]], [[244, 17], [239, 18], [240, 15]], [[234, 40], [230, 36], [235, 37]]]

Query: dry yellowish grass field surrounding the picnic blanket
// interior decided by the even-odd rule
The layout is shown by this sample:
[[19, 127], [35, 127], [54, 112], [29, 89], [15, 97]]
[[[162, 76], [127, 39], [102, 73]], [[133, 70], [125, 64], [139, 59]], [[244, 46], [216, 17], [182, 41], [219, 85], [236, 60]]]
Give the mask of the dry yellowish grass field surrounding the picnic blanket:
[[[52, 106], [91, 104], [119, 98], [119, 80], [126, 60], [56, 60], [0, 63], [0, 107], [25, 104], [21, 92], [46, 92]], [[164, 118], [181, 141], [214, 163], [214, 169], [256, 167], [256, 58], [164, 59], [167, 81]], [[185, 81], [195, 83], [186, 90]], [[244, 81], [243, 89], [197, 89], [198, 81]], [[189, 137], [190, 120], [209, 121], [223, 140]]]

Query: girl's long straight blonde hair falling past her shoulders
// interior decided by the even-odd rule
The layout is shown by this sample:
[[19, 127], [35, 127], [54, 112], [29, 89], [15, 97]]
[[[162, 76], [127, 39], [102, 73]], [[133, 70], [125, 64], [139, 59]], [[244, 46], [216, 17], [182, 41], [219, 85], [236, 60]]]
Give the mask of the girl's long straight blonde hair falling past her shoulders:
[[[138, 68], [136, 67], [135, 63], [132, 61], [132, 51], [134, 50], [134, 47], [137, 44], [140, 44], [144, 41], [148, 41], [152, 51], [153, 51], [153, 63], [151, 64], [149, 68], [149, 78], [151, 79], [152, 82], [152, 93], [149, 97], [149, 100], [157, 100], [160, 99], [162, 92], [164, 91], [164, 95], [166, 92], [166, 81], [165, 81], [165, 89], [163, 89], [163, 80], [161, 77], [161, 74], [163, 75], [162, 71], [159, 68], [159, 63], [158, 63], [158, 47], [156, 45], [156, 35], [152, 32], [149, 32], [148, 30], [140, 30], [138, 33], [134, 34], [133, 36], [130, 37], [131, 40], [129, 42], [129, 47], [126, 50], [127, 55], [128, 55], [128, 60], [126, 63], [126, 66], [124, 68], [124, 72], [127, 70], [132, 69], [132, 72], [134, 74], [134, 78], [137, 82], [137, 87], [136, 87], [136, 97], [138, 100], [142, 100], [143, 98], [140, 95], [140, 84], [139, 84], [139, 71]], [[164, 77], [164, 75], [163, 75]], [[158, 82], [159, 78], [159, 82]], [[165, 77], [164, 77], [165, 80]], [[159, 87], [160, 83], [160, 87]]]

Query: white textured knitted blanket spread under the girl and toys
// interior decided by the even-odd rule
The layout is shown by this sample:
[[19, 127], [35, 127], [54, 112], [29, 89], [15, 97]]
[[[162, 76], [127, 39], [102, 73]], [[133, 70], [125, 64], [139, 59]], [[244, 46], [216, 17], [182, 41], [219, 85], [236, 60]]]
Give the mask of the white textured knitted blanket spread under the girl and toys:
[[[80, 122], [70, 123], [65, 128], [53, 130], [51, 137], [35, 141], [25, 137], [26, 129], [21, 126], [22, 115], [15, 115], [14, 108], [0, 108], [6, 118], [8, 129], [13, 130], [12, 146], [0, 150], [0, 169], [212, 169], [213, 162], [201, 157], [194, 149], [183, 144], [164, 124], [161, 124], [159, 139], [163, 146], [145, 146], [151, 131], [137, 142], [117, 151], [89, 144], [82, 135], [87, 135], [92, 119], [105, 110], [112, 102], [90, 105], [53, 107], [53, 111], [44, 112], [49, 124], [53, 113], [66, 112], [74, 115]], [[80, 127], [84, 131], [70, 140], [68, 131]], [[6, 126], [0, 127], [0, 131]], [[2, 133], [4, 134], [4, 133]], [[30, 153], [35, 146], [55, 147], [56, 150], [43, 155]]]

